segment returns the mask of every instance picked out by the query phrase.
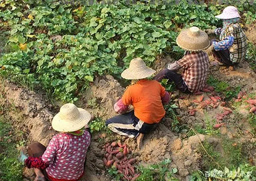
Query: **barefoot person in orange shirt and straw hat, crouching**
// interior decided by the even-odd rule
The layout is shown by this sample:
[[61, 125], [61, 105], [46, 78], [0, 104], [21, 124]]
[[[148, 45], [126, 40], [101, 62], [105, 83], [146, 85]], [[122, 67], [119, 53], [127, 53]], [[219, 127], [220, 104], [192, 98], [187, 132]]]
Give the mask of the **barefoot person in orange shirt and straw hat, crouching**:
[[[148, 68], [141, 58], [131, 60], [129, 68], [121, 74], [122, 78], [132, 80], [114, 109], [121, 115], [106, 121], [106, 125], [119, 135], [137, 139], [138, 149], [142, 146], [144, 134], [154, 128], [165, 116], [164, 104], [170, 95], [156, 80], [148, 79], [156, 71]], [[134, 83], [135, 82], [135, 83]], [[134, 110], [128, 111], [129, 105]]]

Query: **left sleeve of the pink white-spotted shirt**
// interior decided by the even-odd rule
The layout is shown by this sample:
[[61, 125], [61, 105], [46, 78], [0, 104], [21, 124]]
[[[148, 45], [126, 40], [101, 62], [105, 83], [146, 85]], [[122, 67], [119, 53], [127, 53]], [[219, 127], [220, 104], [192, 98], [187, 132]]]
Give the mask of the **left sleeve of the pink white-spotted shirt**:
[[[54, 136], [51, 139], [49, 145], [47, 146], [45, 153], [42, 155], [42, 160], [47, 164], [51, 164], [56, 157], [57, 139], [63, 139], [63, 138]], [[63, 141], [63, 140], [60, 140], [60, 141]]]

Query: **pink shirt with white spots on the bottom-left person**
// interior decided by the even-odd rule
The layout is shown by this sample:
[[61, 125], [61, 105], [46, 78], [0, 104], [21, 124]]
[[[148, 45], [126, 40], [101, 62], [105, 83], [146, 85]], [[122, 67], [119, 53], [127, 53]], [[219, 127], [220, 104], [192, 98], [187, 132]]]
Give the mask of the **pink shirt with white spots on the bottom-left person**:
[[56, 179], [78, 179], [83, 173], [90, 139], [88, 131], [81, 136], [69, 133], [55, 135], [42, 155], [43, 162], [49, 164], [47, 174]]

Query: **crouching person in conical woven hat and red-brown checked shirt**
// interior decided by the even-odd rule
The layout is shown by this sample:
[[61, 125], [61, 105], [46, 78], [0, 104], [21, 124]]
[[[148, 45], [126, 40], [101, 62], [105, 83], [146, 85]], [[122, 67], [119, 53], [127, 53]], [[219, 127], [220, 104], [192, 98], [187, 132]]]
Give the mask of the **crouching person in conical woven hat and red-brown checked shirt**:
[[[186, 50], [185, 55], [173, 64], [167, 64], [167, 68], [161, 70], [154, 79], [161, 82], [167, 78], [182, 92], [196, 93], [205, 87], [207, 80], [209, 58], [203, 50], [210, 46], [208, 35], [197, 27], [191, 27], [181, 31], [176, 42]], [[178, 74], [181, 68], [183, 72]]]

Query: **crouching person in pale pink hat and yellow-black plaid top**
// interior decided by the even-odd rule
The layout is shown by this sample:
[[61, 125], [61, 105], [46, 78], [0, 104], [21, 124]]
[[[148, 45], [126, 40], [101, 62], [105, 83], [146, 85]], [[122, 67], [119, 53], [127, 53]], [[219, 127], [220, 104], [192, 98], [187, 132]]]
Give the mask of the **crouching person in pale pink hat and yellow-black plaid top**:
[[246, 35], [238, 23], [241, 16], [236, 7], [228, 6], [215, 18], [223, 20], [223, 28], [207, 29], [205, 32], [215, 33], [220, 41], [211, 40], [211, 46], [206, 52], [209, 56], [213, 55], [220, 64], [231, 66], [231, 69], [234, 69], [234, 66], [244, 59], [247, 50]]

